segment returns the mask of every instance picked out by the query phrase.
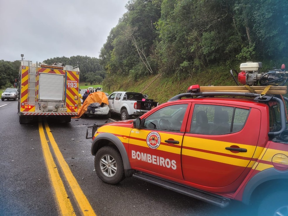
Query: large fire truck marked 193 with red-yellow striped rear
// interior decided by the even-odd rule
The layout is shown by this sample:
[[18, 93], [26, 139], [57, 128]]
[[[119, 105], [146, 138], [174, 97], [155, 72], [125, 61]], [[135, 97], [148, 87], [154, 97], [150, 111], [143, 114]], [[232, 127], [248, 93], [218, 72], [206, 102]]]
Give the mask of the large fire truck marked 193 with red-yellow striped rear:
[[19, 78], [14, 83], [19, 89], [20, 124], [30, 123], [42, 116], [70, 122], [71, 117], [78, 113], [79, 73], [78, 62], [73, 67], [63, 63], [38, 64], [22, 59]]

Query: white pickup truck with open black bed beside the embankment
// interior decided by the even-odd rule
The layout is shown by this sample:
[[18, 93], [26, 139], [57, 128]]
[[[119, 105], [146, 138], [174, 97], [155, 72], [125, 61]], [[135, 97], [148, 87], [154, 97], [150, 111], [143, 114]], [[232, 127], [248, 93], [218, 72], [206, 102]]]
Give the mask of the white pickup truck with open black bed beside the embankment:
[[108, 96], [110, 112], [120, 114], [121, 120], [141, 116], [158, 106], [158, 102], [153, 102], [153, 99], [147, 97], [148, 95], [137, 92], [113, 92]]

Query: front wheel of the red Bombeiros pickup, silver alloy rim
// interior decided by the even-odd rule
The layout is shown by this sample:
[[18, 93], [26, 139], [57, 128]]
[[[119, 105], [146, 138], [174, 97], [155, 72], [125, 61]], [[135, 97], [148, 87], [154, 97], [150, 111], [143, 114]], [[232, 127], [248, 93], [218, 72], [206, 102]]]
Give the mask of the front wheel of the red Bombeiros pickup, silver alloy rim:
[[98, 177], [107, 184], [118, 184], [125, 177], [122, 157], [113, 147], [100, 148], [94, 166]]

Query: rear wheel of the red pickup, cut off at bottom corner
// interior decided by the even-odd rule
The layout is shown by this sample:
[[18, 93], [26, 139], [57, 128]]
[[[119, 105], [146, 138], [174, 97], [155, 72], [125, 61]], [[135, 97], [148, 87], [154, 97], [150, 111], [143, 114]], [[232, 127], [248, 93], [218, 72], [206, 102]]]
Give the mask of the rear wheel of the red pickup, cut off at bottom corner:
[[288, 215], [288, 191], [277, 191], [265, 196], [259, 204], [258, 216]]

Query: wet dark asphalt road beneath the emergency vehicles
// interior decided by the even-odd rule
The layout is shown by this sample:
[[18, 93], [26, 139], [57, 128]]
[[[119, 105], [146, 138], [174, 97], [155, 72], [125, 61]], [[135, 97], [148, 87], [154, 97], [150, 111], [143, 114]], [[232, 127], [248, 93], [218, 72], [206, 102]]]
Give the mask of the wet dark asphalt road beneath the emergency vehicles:
[[[112, 118], [120, 119], [114, 115]], [[17, 101], [12, 100], [0, 102], [0, 119], [0, 215], [61, 215], [45, 163], [39, 123], [19, 124]], [[93, 116], [72, 119], [68, 124], [48, 121], [50, 131], [47, 133], [52, 133], [96, 215], [250, 215], [248, 208], [238, 202], [221, 209], [133, 177], [118, 185], [103, 183], [94, 170], [94, 156], [90, 152], [92, 139], [85, 139], [85, 134], [87, 126], [106, 121], [112, 120]], [[51, 146], [50, 150], [53, 154]], [[55, 155], [53, 157], [55, 159]], [[56, 162], [54, 168], [59, 166]], [[75, 214], [83, 215], [76, 202], [77, 195], [73, 195], [64, 173], [59, 170]], [[84, 213], [93, 215], [87, 210]]]

